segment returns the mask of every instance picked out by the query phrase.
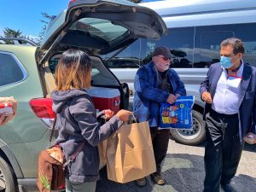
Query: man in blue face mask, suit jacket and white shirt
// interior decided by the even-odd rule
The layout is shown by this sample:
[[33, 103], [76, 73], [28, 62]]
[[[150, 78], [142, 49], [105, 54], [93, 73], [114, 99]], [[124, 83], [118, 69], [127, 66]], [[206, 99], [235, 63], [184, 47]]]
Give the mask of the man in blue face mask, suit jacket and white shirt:
[[220, 44], [220, 62], [212, 64], [201, 83], [206, 102], [207, 144], [204, 192], [234, 192], [231, 179], [241, 158], [244, 137], [256, 131], [256, 67], [242, 60], [245, 52], [238, 38]]

